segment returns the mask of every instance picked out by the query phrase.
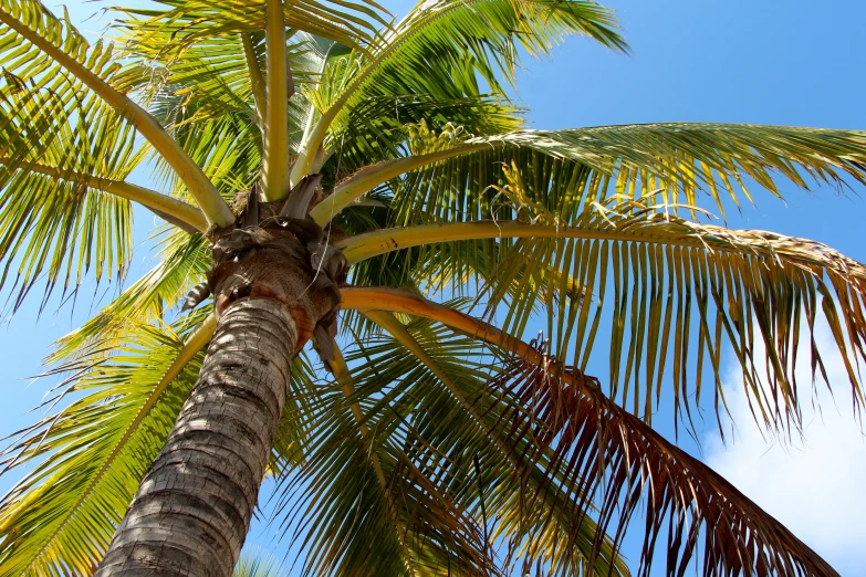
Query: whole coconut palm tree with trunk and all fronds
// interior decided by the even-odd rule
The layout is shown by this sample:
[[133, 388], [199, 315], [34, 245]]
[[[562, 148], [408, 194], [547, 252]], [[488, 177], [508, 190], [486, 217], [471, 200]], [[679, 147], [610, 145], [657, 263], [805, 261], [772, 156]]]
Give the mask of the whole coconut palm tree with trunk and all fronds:
[[[824, 322], [862, 406], [864, 265], [703, 214], [747, 178], [866, 182], [866, 133], [523, 128], [521, 53], [626, 50], [588, 1], [163, 0], [116, 48], [3, 0], [0, 27], [12, 305], [123, 275], [131, 201], [166, 221], [49, 358], [72, 400], [6, 452], [31, 470], [2, 575], [228, 576], [265, 474], [316, 574], [627, 575], [639, 514], [641, 575], [836, 575], [650, 416], [668, 375], [678, 417], [723, 413], [726, 345], [759, 423], [795, 429]], [[126, 181], [145, 159], [171, 193]]]

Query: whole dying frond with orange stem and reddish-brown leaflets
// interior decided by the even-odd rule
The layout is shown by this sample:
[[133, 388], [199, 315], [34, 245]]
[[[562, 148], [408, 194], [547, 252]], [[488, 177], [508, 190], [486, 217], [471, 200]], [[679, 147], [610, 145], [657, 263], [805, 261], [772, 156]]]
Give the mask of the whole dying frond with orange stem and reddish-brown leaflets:
[[562, 483], [526, 491], [526, 501], [552, 492], [573, 495], [581, 514], [597, 506], [596, 553], [608, 528], [618, 546], [643, 504], [641, 575], [648, 575], [664, 525], [670, 538], [668, 575], [681, 575], [692, 560], [708, 575], [837, 575], [720, 475], [605, 396], [596, 379], [567, 370], [543, 349], [406, 292], [344, 290], [343, 306], [425, 317], [499, 350], [505, 363], [499, 377], [489, 380], [489, 394], [503, 409], [511, 442], [529, 440], [540, 453], [553, 451], [553, 466], [543, 468], [545, 474], [554, 466], [567, 472]]

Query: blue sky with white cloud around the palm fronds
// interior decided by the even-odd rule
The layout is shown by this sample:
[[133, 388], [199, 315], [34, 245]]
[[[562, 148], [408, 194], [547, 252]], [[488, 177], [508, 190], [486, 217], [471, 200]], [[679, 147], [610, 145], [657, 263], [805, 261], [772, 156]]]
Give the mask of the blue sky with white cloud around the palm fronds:
[[[863, 0], [821, 4], [805, 0], [613, 0], [607, 4], [618, 11], [633, 54], [614, 54], [572, 38], [553, 51], [551, 60], [526, 59], [517, 96], [532, 108], [531, 127], [729, 122], [866, 128]], [[102, 6], [69, 3], [73, 21], [80, 23]], [[396, 14], [410, 8], [408, 2], [385, 6]], [[98, 31], [101, 27], [91, 20], [82, 28]], [[729, 214], [730, 224], [815, 239], [866, 261], [864, 187], [855, 187], [847, 198], [830, 189], [810, 193], [784, 186], [782, 191], [785, 201], [759, 191], [758, 207]], [[142, 211], [136, 217], [136, 237], [144, 239], [153, 218]], [[131, 281], [152, 264], [152, 256], [146, 248], [135, 253]], [[108, 291], [103, 304], [114, 291]], [[74, 313], [49, 311], [36, 322], [36, 305], [38, 300], [31, 300], [14, 318], [2, 319], [0, 436], [36, 419], [38, 415], [27, 411], [40, 402], [52, 382], [29, 386], [27, 377], [40, 370], [40, 360], [55, 338], [96, 310], [91, 311], [86, 297], [80, 298]], [[604, 356], [603, 350], [598, 357]], [[595, 363], [589, 371], [595, 367], [594, 374], [606, 375], [603, 363], [598, 358]], [[833, 396], [818, 395], [821, 413], [805, 409], [808, 424], [802, 440], [762, 438], [751, 424], [741, 381], [731, 367], [726, 388], [737, 423], [733, 442], [729, 437], [722, 445], [712, 426], [700, 431], [700, 443], [682, 434], [680, 441], [785, 523], [842, 575], [866, 576], [866, 441], [852, 419], [848, 385], [838, 361], [831, 361], [830, 373]], [[655, 424], [672, 434], [670, 419], [657, 418]], [[0, 491], [13, 481], [0, 478]], [[273, 547], [272, 527], [257, 524], [250, 542]], [[636, 562], [636, 555], [632, 550], [629, 558]], [[661, 574], [662, 568], [655, 573]]]

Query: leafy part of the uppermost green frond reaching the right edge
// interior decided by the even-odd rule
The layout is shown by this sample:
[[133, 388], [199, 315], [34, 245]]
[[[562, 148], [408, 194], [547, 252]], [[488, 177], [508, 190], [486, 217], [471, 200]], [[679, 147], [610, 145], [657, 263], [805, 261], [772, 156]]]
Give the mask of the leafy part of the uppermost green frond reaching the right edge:
[[[515, 167], [529, 200], [563, 223], [614, 190], [633, 198], [658, 190], [672, 207], [724, 214], [729, 202], [739, 204], [738, 191], [751, 200], [744, 177], [776, 196], [776, 176], [801, 188], [866, 180], [866, 133], [858, 130], [720, 124], [519, 130], [456, 141], [453, 153], [395, 187], [396, 224], [491, 218], [507, 183], [503, 165]], [[503, 211], [511, 212], [500, 207], [497, 218], [509, 218]]]

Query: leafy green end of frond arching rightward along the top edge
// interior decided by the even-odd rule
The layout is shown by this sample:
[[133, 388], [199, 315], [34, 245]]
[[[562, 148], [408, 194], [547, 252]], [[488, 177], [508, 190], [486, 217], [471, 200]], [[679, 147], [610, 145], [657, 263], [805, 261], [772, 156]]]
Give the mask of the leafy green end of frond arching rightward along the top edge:
[[[513, 82], [519, 49], [533, 56], [546, 55], [568, 34], [585, 35], [615, 50], [627, 48], [613, 11], [596, 2], [420, 2], [385, 33], [383, 45], [346, 87], [352, 99], [345, 106], [351, 108], [355, 99], [373, 95], [437, 94], [442, 90], [438, 80], [448, 71], [471, 75], [455, 77], [446, 86], [455, 83], [463, 91], [477, 86], [477, 72], [494, 92], [504, 94], [500, 81], [504, 75], [505, 82]], [[424, 73], [400, 74], [401, 66], [422, 66]]]

